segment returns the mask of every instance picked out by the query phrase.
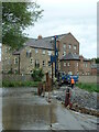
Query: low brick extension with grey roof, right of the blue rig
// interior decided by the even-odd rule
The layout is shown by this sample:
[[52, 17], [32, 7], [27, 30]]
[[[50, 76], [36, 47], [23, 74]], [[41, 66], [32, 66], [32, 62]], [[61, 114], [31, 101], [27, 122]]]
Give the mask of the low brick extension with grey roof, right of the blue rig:
[[62, 57], [61, 69], [66, 74], [90, 75], [90, 59], [69, 53]]

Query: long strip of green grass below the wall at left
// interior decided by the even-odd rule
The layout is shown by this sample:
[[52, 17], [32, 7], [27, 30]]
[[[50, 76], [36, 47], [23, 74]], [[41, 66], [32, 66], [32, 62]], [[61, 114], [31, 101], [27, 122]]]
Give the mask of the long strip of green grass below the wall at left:
[[2, 81], [2, 87], [37, 87], [40, 81]]

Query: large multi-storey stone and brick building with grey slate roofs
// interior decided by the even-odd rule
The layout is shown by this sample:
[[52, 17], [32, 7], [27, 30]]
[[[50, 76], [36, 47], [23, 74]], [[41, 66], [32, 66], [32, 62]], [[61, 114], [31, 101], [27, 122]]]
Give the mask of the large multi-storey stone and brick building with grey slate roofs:
[[[72, 33], [58, 35], [58, 69], [73, 74], [90, 74], [90, 63], [79, 56], [79, 42]], [[33, 68], [43, 68], [52, 74], [51, 55], [55, 54], [54, 36], [29, 38], [22, 48], [11, 52], [10, 47], [2, 46], [2, 72], [31, 74]], [[68, 59], [68, 56], [69, 59]], [[85, 65], [85, 66], [84, 66]], [[55, 68], [54, 68], [55, 69]]]

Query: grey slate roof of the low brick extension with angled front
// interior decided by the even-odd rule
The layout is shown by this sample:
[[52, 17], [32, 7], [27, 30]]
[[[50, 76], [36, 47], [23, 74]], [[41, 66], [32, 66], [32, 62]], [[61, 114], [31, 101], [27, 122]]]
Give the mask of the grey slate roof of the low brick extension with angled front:
[[79, 61], [79, 55], [69, 53], [61, 58], [61, 61]]

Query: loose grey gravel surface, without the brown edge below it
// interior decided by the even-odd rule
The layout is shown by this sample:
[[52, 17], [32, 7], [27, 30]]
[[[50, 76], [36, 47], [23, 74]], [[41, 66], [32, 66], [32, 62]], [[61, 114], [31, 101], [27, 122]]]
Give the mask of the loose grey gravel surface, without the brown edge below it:
[[[66, 88], [67, 86], [63, 86], [58, 90], [54, 90], [52, 97], [65, 102]], [[72, 89], [72, 102], [79, 107], [99, 110], [97, 103], [98, 99], [99, 94], [97, 92], [88, 92], [84, 89], [79, 89], [78, 87], [74, 87], [74, 89]]]

